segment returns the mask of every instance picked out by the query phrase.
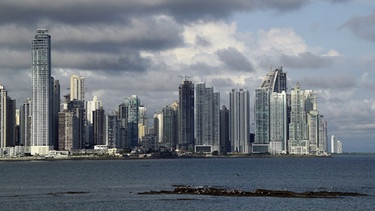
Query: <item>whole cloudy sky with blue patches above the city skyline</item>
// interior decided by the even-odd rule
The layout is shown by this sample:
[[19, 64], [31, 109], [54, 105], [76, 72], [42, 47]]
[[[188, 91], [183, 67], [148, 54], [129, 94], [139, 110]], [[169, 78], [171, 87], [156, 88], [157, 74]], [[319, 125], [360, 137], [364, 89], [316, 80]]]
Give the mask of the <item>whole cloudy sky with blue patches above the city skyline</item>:
[[[375, 152], [373, 0], [29, 0], [0, 2], [0, 84], [31, 96], [31, 40], [52, 37], [52, 75], [68, 92], [86, 78], [106, 112], [138, 95], [149, 116], [178, 99], [181, 76], [228, 105], [283, 66], [288, 89], [318, 93], [318, 109], [346, 152]], [[252, 103], [253, 104], [253, 103]], [[251, 129], [253, 131], [253, 129]]]

